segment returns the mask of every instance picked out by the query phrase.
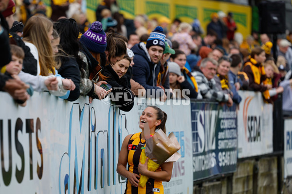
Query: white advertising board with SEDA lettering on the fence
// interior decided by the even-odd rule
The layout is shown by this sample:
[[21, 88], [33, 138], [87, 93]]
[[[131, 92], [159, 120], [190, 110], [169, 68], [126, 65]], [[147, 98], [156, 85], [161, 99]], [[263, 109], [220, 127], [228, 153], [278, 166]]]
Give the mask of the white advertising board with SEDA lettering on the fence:
[[238, 158], [273, 152], [273, 105], [260, 92], [239, 91]]

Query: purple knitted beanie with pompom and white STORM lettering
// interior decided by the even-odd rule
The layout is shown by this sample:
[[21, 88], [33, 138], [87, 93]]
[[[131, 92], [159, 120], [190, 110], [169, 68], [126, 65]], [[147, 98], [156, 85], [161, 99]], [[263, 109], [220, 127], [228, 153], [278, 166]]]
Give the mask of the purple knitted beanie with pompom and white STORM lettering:
[[104, 52], [107, 48], [107, 35], [102, 29], [102, 24], [99, 21], [93, 22], [91, 27], [82, 34], [80, 42], [93, 52]]

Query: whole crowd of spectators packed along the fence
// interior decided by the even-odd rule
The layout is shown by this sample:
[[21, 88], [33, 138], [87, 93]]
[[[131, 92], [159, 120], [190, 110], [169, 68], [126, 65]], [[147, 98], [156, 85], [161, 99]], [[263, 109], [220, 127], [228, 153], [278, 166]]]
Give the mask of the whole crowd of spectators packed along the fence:
[[92, 24], [82, 1], [52, 0], [51, 18], [38, 4], [18, 21], [14, 1], [0, 1], [0, 90], [22, 106], [34, 90], [69, 101], [89, 96], [90, 103], [112, 96], [123, 111], [135, 96], [232, 106], [241, 101], [238, 90], [252, 90], [267, 103], [284, 93], [283, 110], [292, 113], [292, 33], [278, 40], [274, 59], [269, 35], [242, 40], [232, 12], [212, 13], [204, 35], [197, 19], [125, 19], [114, 0], [98, 5]]

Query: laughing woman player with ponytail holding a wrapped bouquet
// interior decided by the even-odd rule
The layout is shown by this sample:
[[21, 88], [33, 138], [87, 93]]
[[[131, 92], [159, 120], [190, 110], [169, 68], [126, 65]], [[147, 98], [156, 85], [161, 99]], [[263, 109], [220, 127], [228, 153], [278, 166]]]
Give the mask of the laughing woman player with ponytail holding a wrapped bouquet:
[[[166, 133], [165, 122], [167, 114], [156, 106], [147, 107], [140, 116], [139, 127], [142, 132], [128, 135], [123, 142], [117, 173], [127, 178], [125, 194], [164, 194], [162, 181], [169, 181], [172, 174], [173, 162], [164, 162], [156, 171], [147, 169], [147, 160], [141, 164], [141, 152], [145, 148], [144, 125], [147, 123], [150, 134], [154, 135], [156, 129]], [[128, 164], [128, 170], [127, 170]], [[138, 185], [141, 175], [149, 177], [146, 186]]]

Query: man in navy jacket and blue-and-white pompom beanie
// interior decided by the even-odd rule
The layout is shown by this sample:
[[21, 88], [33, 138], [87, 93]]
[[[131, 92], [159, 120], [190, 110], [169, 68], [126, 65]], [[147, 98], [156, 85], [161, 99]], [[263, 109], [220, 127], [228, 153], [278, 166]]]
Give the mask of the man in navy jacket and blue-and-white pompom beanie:
[[162, 97], [162, 100], [166, 100], [166, 95], [164, 90], [157, 86], [157, 76], [164, 49], [165, 34], [160, 26], [150, 33], [146, 45], [141, 42], [131, 49], [135, 54], [134, 81], [137, 81], [146, 89], [147, 97]]

